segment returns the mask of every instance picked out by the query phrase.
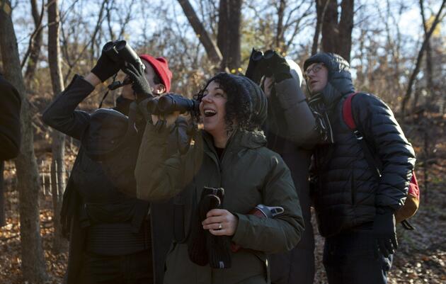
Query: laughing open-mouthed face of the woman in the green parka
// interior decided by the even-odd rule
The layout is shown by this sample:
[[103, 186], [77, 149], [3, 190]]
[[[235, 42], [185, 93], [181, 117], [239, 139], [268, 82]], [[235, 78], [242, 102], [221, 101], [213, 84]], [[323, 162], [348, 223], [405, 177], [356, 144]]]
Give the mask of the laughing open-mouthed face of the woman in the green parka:
[[203, 92], [203, 98], [200, 103], [200, 114], [203, 118], [205, 130], [212, 136], [226, 135], [226, 116], [227, 94], [223, 91], [216, 81], [211, 81]]

